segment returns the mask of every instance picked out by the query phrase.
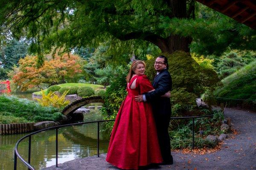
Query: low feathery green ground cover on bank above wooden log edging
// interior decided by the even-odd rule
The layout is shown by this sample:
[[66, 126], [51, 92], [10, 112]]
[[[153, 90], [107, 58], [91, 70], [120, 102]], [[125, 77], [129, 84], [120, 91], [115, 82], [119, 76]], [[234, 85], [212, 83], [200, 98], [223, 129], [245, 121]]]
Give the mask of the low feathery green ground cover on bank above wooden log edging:
[[42, 107], [37, 102], [0, 95], [0, 124], [58, 121], [62, 118], [59, 109]]

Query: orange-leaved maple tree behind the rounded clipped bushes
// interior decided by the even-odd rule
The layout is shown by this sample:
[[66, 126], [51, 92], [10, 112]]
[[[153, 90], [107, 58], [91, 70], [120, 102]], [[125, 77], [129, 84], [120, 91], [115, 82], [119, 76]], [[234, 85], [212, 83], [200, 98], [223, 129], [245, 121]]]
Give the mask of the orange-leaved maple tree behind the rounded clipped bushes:
[[55, 55], [46, 59], [44, 64], [37, 68], [37, 56], [26, 56], [20, 59], [19, 67], [15, 69], [13, 82], [20, 86], [21, 91], [42, 85], [56, 85], [71, 82], [81, 76], [82, 59], [77, 55]]

